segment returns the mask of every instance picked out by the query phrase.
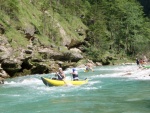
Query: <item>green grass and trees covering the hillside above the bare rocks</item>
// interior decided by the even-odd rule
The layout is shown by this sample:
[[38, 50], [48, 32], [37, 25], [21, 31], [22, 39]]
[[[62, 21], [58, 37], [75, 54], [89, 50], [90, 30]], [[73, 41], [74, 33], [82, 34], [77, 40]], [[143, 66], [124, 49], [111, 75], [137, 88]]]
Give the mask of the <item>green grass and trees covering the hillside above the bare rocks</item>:
[[[86, 28], [85, 54], [91, 59], [100, 61], [106, 53], [128, 56], [149, 53], [148, 0], [0, 0], [0, 3], [0, 23], [7, 24], [9, 37], [16, 26], [15, 33], [19, 34], [18, 28], [32, 24], [41, 41], [60, 46], [62, 38], [57, 25], [61, 23], [70, 38], [80, 39], [75, 30]], [[23, 39], [24, 35], [20, 32], [18, 36]]]

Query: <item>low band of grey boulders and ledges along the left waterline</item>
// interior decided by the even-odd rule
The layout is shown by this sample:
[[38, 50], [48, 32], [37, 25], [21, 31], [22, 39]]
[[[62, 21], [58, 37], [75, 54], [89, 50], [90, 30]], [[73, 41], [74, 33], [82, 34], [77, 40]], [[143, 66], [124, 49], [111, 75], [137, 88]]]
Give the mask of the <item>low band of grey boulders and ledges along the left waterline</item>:
[[[27, 45], [26, 48], [14, 49], [7, 37], [0, 36], [0, 64], [10, 77], [26, 74], [42, 74], [56, 71], [58, 67], [75, 66], [83, 59], [82, 52], [64, 47], [44, 47], [43, 45]], [[67, 62], [67, 63], [66, 63]]]

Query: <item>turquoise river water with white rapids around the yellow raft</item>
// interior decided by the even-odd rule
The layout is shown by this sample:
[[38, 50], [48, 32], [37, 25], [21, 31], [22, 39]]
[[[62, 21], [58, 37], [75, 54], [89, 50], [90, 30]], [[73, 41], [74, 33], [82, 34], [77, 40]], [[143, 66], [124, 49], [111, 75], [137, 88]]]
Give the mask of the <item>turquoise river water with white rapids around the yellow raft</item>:
[[[7, 79], [0, 85], [0, 113], [150, 113], [150, 79], [143, 73], [126, 76], [135, 65], [102, 66], [94, 72], [78, 69], [81, 86], [47, 87], [40, 77], [30, 75]], [[71, 69], [65, 71], [67, 79]]]

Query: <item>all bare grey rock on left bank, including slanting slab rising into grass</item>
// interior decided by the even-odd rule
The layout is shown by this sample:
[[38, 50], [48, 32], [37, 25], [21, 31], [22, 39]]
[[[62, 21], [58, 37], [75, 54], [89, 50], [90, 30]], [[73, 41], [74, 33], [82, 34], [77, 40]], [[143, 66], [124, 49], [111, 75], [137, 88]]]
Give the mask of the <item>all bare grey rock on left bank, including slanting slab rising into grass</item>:
[[[45, 15], [48, 14], [50, 13], [45, 13]], [[53, 24], [55, 24], [61, 40], [57, 45], [55, 42], [47, 42], [48, 45], [45, 45], [37, 38], [39, 35], [38, 26], [24, 22], [22, 26], [13, 27], [14, 31], [22, 36], [18, 37], [17, 41], [21, 39], [28, 41], [27, 44], [24, 42], [25, 47], [23, 47], [13, 36], [7, 37], [6, 32], [12, 26], [9, 20], [8, 23], [10, 27], [4, 27], [5, 24], [0, 23], [0, 64], [10, 77], [50, 73], [59, 67], [66, 69], [76, 66], [77, 62], [84, 58], [82, 51], [79, 50], [86, 37], [86, 29], [84, 28], [79, 27], [74, 30], [77, 37], [73, 37], [57, 20], [54, 20]], [[12, 34], [14, 33], [12, 32]], [[79, 38], [80, 35], [82, 38]], [[51, 38], [54, 38], [53, 41], [55, 41], [57, 37]], [[12, 44], [15, 45], [15, 48]]]

